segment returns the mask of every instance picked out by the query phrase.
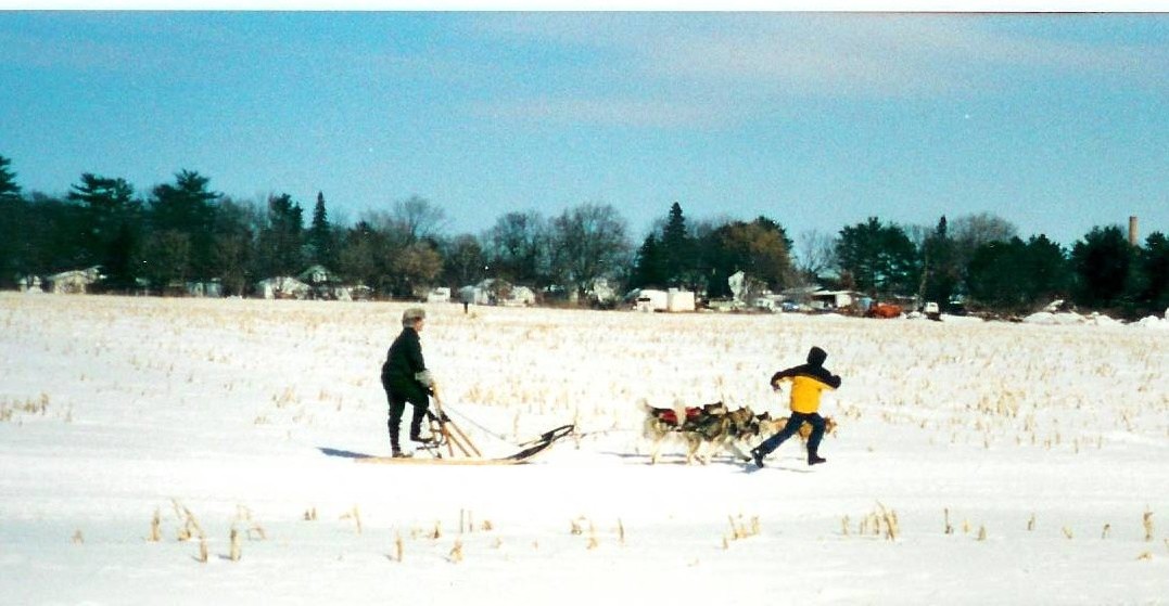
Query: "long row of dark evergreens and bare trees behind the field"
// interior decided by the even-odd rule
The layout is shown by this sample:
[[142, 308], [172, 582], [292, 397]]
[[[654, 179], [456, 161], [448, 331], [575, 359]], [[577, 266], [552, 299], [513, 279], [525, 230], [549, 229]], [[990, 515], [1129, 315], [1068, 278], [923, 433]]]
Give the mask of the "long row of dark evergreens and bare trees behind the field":
[[485, 278], [547, 299], [588, 300], [596, 280], [618, 292], [683, 287], [729, 297], [742, 271], [747, 297], [818, 285], [877, 300], [935, 301], [943, 311], [1024, 313], [1054, 299], [1136, 318], [1169, 306], [1169, 246], [1162, 232], [1130, 245], [1119, 225], [1097, 227], [1070, 250], [1023, 238], [989, 214], [905, 227], [871, 217], [836, 234], [793, 241], [769, 217], [689, 221], [675, 202], [636, 244], [609, 204], [556, 216], [510, 211], [480, 234], [450, 235], [444, 210], [420, 196], [330, 220], [318, 193], [311, 213], [288, 194], [241, 201], [180, 170], [140, 195], [119, 177], [84, 173], [64, 197], [25, 194], [0, 156], [0, 287], [19, 277], [98, 265], [103, 288], [154, 293], [220, 280], [251, 294], [264, 278], [319, 264], [379, 297], [419, 298], [434, 286]]

